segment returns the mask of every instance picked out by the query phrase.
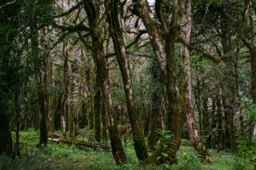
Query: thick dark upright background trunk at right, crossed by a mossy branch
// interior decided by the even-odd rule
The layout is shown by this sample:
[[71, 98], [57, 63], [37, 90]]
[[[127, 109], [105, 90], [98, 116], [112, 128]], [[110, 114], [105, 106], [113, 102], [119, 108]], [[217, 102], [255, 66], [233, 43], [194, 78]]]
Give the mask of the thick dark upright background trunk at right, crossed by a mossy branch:
[[[232, 42], [232, 28], [234, 25], [231, 25], [232, 22], [229, 22], [230, 14], [227, 13], [226, 8], [230, 8], [229, 5], [222, 7], [222, 13], [220, 14], [220, 38], [222, 43], [222, 51], [224, 55], [230, 55], [232, 49], [234, 49], [234, 43]], [[225, 62], [225, 72], [224, 76], [226, 81], [224, 81], [226, 88], [223, 89], [225, 92], [224, 96], [226, 98], [226, 108], [225, 112], [225, 139], [226, 139], [226, 148], [231, 148], [232, 152], [236, 152], [236, 141], [234, 136], [234, 114], [236, 106], [236, 77], [235, 77], [235, 68], [234, 63], [236, 59], [233, 57], [232, 60]]]

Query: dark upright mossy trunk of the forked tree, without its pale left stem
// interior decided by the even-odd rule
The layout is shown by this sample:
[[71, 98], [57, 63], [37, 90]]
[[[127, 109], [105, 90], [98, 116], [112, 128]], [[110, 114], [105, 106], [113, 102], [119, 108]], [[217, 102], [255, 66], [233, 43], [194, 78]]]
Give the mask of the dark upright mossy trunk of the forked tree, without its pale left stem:
[[[171, 22], [178, 24], [178, 11], [173, 9]], [[176, 86], [176, 62], [175, 62], [175, 38], [176, 33], [170, 29], [166, 34], [166, 94], [167, 94], [167, 122], [166, 127], [170, 129], [172, 137], [170, 138], [170, 162], [177, 164], [178, 141], [180, 131], [183, 128], [181, 124], [178, 105], [178, 88]]]

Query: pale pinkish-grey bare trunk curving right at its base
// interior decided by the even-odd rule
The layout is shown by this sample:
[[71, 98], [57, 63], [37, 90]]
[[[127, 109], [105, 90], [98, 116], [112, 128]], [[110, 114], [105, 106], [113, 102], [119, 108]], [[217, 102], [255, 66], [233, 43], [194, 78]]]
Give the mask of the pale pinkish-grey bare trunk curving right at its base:
[[[182, 38], [186, 42], [190, 42], [191, 34], [191, 6], [190, 0], [181, 0], [182, 11], [185, 11], [183, 14], [181, 25]], [[186, 45], [181, 45], [181, 57], [182, 57], [182, 68], [183, 68], [183, 77], [182, 77], [182, 92], [185, 97], [184, 109], [186, 112], [186, 127], [188, 128], [190, 140], [194, 149], [202, 156], [203, 160], [206, 162], [212, 162], [210, 153], [207, 151], [206, 147], [200, 141], [200, 136], [196, 128], [194, 121], [194, 112], [192, 106], [192, 88], [191, 88], [191, 76], [190, 76], [190, 51]], [[207, 102], [206, 102], [207, 106]], [[182, 109], [183, 110], [183, 109]], [[206, 110], [208, 112], [208, 110]], [[207, 118], [207, 117], [206, 117]]]

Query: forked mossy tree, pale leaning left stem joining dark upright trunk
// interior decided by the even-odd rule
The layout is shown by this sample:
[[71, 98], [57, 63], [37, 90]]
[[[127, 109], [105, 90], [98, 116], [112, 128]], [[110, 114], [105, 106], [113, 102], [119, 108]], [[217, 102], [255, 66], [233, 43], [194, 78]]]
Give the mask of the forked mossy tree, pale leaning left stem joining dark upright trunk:
[[166, 87], [167, 96], [166, 128], [169, 129], [172, 134], [168, 147], [171, 150], [168, 159], [157, 159], [158, 156], [161, 156], [162, 149], [158, 148], [154, 154], [146, 159], [142, 164], [160, 164], [165, 160], [168, 160], [170, 163], [177, 163], [178, 138], [180, 137], [182, 127], [180, 123], [181, 115], [179, 114], [178, 106], [178, 90], [175, 75], [176, 65], [174, 58], [174, 46], [177, 33], [174, 31], [172, 26], [176, 26], [178, 24], [178, 9], [176, 6], [171, 10], [172, 15], [169, 24], [166, 20], [165, 14], [163, 14], [163, 1], [157, 1], [155, 3], [155, 11], [158, 21], [160, 22], [160, 28], [158, 28], [156, 26], [156, 21], [154, 21], [150, 16], [151, 10], [148, 2], [146, 0], [134, 0], [133, 2], [133, 13], [142, 19], [142, 22], [150, 35], [151, 45], [153, 46], [154, 53], [158, 57], [158, 62], [162, 70], [162, 77]]

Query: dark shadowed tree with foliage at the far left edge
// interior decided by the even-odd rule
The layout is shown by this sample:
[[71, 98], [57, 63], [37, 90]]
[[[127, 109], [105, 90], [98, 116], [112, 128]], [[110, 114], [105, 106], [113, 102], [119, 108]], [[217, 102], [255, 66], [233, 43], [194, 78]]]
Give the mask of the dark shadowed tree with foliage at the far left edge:
[[[19, 67], [15, 68], [14, 40], [18, 34], [18, 18], [21, 6], [8, 1], [0, 2], [0, 154], [13, 156], [13, 144], [10, 133], [10, 118], [13, 116], [14, 87], [18, 85]], [[7, 35], [7, 36], [6, 36]], [[20, 60], [20, 58], [18, 58]]]

